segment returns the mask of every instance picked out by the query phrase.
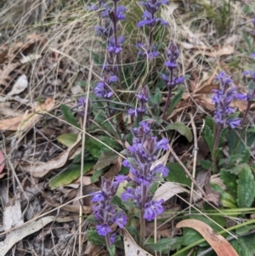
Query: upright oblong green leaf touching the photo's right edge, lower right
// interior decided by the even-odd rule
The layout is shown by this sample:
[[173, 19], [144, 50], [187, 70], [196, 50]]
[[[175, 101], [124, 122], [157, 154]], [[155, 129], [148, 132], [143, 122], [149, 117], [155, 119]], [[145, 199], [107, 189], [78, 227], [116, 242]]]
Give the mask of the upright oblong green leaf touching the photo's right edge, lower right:
[[255, 183], [252, 169], [245, 166], [237, 180], [237, 204], [239, 208], [250, 208], [254, 201]]

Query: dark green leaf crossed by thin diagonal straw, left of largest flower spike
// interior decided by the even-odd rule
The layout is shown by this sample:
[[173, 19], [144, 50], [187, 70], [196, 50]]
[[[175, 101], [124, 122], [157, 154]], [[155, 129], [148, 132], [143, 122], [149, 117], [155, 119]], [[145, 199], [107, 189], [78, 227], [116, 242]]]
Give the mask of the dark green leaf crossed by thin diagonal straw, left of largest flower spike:
[[[101, 154], [105, 151], [111, 151], [111, 148], [116, 150], [121, 148], [120, 145], [116, 142], [116, 139], [111, 137], [99, 136], [97, 139], [99, 139], [99, 141], [93, 138], [89, 138], [85, 143], [86, 151], [89, 151], [89, 153], [96, 158], [99, 158], [99, 156], [101, 156]], [[105, 143], [105, 145], [101, 142]], [[110, 148], [106, 145], [108, 145]]]

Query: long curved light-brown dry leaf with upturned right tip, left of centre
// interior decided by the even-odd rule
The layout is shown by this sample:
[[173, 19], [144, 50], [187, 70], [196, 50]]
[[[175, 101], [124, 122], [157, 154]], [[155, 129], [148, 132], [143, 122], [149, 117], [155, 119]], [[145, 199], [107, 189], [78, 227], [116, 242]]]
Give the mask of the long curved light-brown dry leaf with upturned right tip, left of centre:
[[82, 136], [79, 134], [77, 141], [74, 145], [71, 145], [66, 151], [59, 154], [59, 156], [49, 160], [48, 162], [30, 162], [22, 163], [20, 165], [22, 170], [26, 173], [30, 173], [36, 178], [42, 178], [48, 174], [49, 171], [57, 168], [61, 168], [65, 165], [65, 162], [77, 151], [77, 148], [81, 145]]

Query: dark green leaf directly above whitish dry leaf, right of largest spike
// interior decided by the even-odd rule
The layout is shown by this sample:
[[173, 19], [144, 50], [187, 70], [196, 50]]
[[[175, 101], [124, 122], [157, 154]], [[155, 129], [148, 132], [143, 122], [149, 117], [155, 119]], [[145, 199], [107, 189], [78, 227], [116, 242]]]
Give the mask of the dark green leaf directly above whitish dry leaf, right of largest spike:
[[182, 185], [191, 185], [191, 180], [187, 177], [184, 168], [178, 162], [168, 162], [166, 166], [170, 171], [166, 178], [167, 181], [177, 182]]

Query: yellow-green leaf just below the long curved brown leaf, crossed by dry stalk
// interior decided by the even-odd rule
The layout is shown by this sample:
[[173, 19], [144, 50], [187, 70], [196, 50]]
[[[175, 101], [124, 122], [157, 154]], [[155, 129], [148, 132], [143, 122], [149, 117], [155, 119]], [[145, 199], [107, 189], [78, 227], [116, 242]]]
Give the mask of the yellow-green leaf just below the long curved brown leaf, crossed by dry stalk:
[[[94, 162], [86, 162], [83, 168], [83, 174], [88, 173], [88, 171], [93, 168]], [[78, 179], [81, 174], [81, 165], [74, 164], [67, 168], [63, 173], [54, 177], [50, 183], [49, 187], [51, 190], [58, 188], [61, 185], [71, 184], [72, 181]]]

